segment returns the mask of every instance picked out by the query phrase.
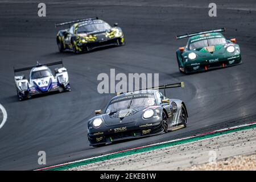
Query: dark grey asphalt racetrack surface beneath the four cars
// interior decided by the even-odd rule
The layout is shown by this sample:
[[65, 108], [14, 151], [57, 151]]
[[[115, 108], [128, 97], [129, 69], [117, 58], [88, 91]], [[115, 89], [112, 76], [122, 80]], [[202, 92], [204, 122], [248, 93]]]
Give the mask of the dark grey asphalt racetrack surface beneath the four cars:
[[[47, 16], [37, 15], [39, 1], [0, 2], [0, 103], [8, 119], [0, 130], [0, 169], [35, 169], [188, 137], [210, 130], [255, 121], [256, 5], [255, 1], [216, 1], [217, 17], [208, 16], [204, 1], [44, 1]], [[73, 55], [59, 53], [54, 23], [98, 16], [119, 23], [126, 46]], [[243, 64], [205, 73], [183, 75], [175, 51], [186, 32], [226, 27], [224, 36], [236, 38]], [[63, 59], [72, 92], [18, 101], [13, 66]], [[97, 76], [110, 73], [159, 73], [160, 84], [179, 81], [185, 88], [167, 91], [187, 104], [188, 127], [171, 133], [90, 147], [87, 119], [104, 109], [114, 94], [97, 92]], [[44, 166], [38, 151], [46, 151]]]

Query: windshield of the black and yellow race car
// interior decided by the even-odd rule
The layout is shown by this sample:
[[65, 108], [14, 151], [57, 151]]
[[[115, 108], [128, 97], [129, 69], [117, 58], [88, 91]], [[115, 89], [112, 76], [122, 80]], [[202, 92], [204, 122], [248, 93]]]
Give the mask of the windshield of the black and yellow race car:
[[110, 25], [106, 22], [85, 24], [84, 26], [77, 27], [76, 33], [80, 34], [94, 31], [105, 31], [109, 30], [110, 28]]

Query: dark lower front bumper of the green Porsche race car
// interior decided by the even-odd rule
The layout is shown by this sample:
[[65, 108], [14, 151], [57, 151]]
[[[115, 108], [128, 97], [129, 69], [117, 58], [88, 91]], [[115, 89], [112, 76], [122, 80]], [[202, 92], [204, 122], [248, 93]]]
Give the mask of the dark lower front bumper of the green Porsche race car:
[[214, 63], [209, 63], [208, 60], [200, 61], [189, 64], [185, 64], [184, 69], [187, 73], [193, 73], [193, 72], [203, 72], [208, 71], [210, 69], [218, 69], [218, 68], [225, 68], [225, 67], [231, 67], [233, 65], [238, 65], [242, 63], [241, 55], [236, 55], [232, 57], [228, 57], [225, 59], [220, 59]]

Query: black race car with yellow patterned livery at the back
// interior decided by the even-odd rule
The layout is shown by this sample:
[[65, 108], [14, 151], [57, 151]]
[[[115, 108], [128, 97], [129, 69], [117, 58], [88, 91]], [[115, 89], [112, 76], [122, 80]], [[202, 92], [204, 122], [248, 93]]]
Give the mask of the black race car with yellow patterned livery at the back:
[[55, 24], [56, 27], [65, 25], [69, 28], [60, 30], [56, 37], [60, 52], [81, 53], [98, 47], [125, 45], [122, 29], [117, 23], [112, 27], [95, 17]]

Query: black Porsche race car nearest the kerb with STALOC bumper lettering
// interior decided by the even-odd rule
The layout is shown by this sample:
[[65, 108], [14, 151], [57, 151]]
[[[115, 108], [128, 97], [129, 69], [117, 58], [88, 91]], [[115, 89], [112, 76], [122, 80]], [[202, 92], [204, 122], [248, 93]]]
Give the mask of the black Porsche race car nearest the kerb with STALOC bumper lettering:
[[183, 86], [184, 83], [122, 93], [110, 100], [104, 113], [96, 110], [88, 121], [91, 146], [102, 146], [123, 139], [141, 138], [187, 126], [185, 103], [165, 97], [158, 89]]

